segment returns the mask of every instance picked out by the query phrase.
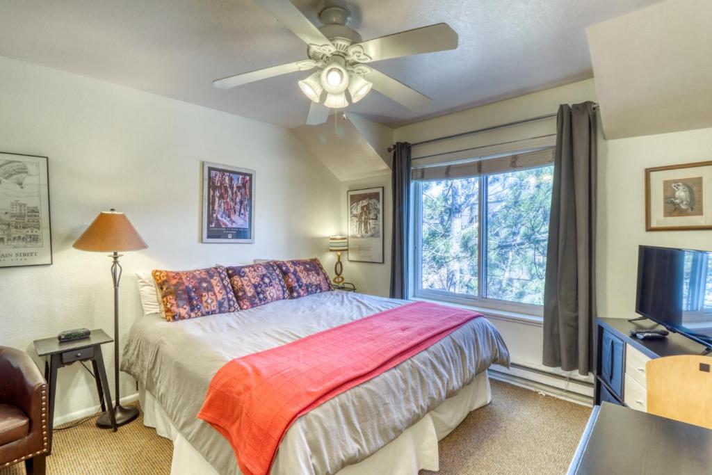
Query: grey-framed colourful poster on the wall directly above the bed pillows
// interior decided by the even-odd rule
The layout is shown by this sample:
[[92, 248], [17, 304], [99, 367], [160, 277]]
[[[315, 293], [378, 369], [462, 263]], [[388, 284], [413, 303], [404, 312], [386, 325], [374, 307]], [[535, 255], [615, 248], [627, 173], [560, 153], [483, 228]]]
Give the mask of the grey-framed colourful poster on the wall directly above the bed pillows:
[[203, 162], [203, 242], [255, 241], [255, 171]]

